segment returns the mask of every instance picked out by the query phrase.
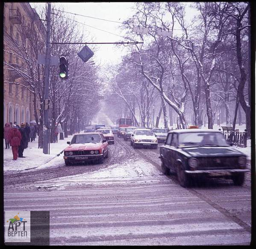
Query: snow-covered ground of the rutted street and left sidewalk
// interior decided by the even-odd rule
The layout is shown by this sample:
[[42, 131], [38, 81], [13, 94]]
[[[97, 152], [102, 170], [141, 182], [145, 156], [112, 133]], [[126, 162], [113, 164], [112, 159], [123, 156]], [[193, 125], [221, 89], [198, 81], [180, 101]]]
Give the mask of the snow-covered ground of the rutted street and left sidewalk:
[[29, 143], [15, 162], [4, 151], [5, 211], [50, 211], [50, 245], [249, 245], [250, 173], [242, 187], [212, 179], [186, 189], [162, 173], [159, 148], [115, 136], [102, 165], [65, 166], [56, 154], [70, 139], [50, 155]]

